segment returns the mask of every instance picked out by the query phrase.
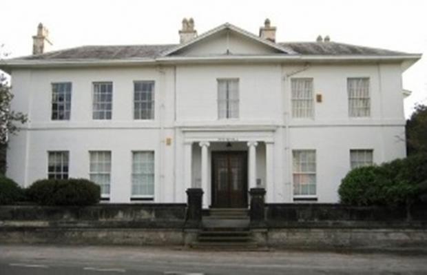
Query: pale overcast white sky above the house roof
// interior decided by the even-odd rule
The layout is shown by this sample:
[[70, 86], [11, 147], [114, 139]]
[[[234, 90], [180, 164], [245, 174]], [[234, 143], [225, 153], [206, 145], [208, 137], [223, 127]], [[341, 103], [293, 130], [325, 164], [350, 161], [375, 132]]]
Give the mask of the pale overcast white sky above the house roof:
[[258, 34], [264, 19], [277, 27], [276, 40], [331, 41], [422, 53], [403, 74], [408, 117], [427, 104], [426, 0], [1, 0], [0, 45], [10, 57], [31, 54], [38, 23], [50, 31], [52, 50], [79, 45], [178, 43], [184, 17], [198, 34], [229, 22]]

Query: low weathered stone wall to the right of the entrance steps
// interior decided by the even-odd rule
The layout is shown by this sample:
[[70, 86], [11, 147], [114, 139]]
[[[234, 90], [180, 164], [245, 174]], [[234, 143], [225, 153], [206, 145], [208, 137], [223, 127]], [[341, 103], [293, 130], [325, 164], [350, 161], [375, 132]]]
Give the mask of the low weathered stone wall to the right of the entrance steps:
[[265, 230], [254, 232], [269, 247], [426, 252], [427, 205], [406, 209], [339, 204], [266, 205]]

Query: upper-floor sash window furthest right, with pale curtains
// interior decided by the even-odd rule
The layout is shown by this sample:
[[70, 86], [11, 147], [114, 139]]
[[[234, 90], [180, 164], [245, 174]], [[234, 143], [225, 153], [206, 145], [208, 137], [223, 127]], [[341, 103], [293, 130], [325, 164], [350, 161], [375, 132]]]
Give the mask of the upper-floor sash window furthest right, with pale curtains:
[[369, 95], [369, 79], [347, 79], [348, 116], [363, 117], [371, 115], [371, 98]]

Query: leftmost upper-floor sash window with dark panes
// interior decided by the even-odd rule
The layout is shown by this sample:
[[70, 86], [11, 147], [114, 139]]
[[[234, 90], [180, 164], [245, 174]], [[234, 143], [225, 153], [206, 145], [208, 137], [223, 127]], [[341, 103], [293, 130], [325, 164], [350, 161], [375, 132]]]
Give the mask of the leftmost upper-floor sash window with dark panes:
[[71, 83], [52, 83], [52, 121], [66, 121], [71, 112]]

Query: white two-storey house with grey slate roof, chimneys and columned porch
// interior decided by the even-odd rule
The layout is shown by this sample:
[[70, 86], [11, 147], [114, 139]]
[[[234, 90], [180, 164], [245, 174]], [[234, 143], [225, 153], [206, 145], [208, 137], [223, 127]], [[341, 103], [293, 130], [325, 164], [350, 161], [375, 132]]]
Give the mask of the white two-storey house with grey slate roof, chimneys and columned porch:
[[8, 176], [90, 178], [112, 203], [186, 201], [246, 207], [339, 201], [352, 167], [406, 156], [402, 72], [420, 54], [319, 37], [275, 42], [229, 23], [197, 35], [183, 21], [178, 45], [83, 46], [1, 65], [13, 110], [30, 121], [10, 140]]

